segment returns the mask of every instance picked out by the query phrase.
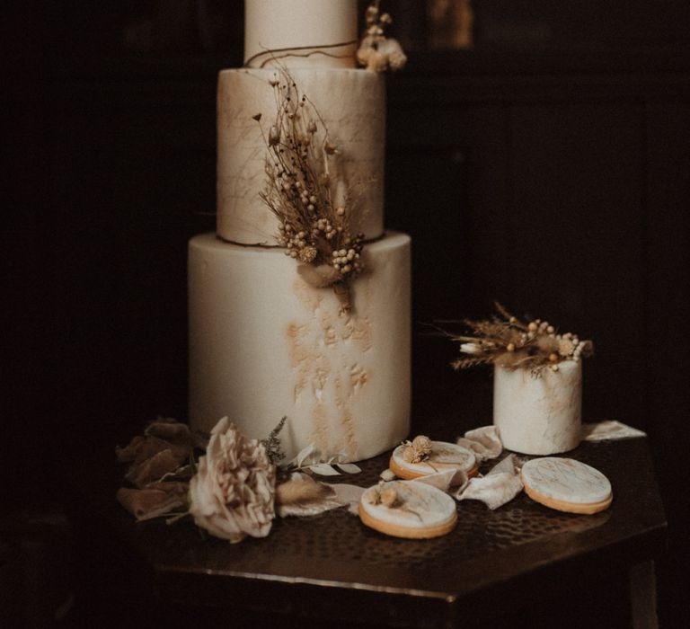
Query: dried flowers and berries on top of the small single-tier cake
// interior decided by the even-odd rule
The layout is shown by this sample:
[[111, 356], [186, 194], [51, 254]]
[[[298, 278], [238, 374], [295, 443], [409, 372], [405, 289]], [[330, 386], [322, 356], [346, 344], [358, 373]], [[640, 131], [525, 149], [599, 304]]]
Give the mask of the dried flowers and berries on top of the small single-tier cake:
[[559, 370], [563, 360], [586, 358], [594, 351], [592, 341], [580, 341], [576, 334], [560, 334], [548, 321], [521, 321], [498, 302], [500, 316], [481, 321], [465, 320], [469, 335], [448, 334], [461, 343], [460, 351], [467, 358], [455, 360], [456, 369], [493, 364], [508, 369], [529, 369], [539, 376], [544, 369]]

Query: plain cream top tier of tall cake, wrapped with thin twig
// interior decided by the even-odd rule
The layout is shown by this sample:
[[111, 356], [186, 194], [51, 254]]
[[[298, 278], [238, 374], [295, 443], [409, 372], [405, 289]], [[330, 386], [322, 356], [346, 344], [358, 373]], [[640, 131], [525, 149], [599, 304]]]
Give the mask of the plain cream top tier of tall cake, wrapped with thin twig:
[[245, 0], [244, 65], [354, 67], [357, 0]]

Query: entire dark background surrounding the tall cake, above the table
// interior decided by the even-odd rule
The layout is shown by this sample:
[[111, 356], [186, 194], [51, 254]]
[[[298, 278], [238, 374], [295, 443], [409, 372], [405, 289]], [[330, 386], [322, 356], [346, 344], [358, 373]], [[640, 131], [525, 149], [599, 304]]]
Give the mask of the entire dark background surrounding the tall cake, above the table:
[[[429, 45], [424, 3], [387, 7], [410, 57], [388, 81], [385, 195], [413, 239], [415, 399], [489, 377], [452, 373], [425, 323], [493, 299], [593, 339], [585, 421], [650, 435], [659, 611], [683, 626], [690, 5], [477, 0], [465, 50]], [[185, 418], [186, 244], [215, 224], [216, 76], [242, 63], [242, 6], [4, 11], [4, 489], [50, 516], [84, 448]]]

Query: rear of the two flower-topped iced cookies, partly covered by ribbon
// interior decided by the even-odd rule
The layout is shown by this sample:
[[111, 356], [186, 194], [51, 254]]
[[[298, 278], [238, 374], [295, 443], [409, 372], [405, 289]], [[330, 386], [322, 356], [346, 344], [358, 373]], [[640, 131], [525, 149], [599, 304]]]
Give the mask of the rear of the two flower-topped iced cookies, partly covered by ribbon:
[[411, 447], [411, 445], [407, 443], [401, 444], [394, 449], [388, 466], [396, 476], [408, 480], [420, 478], [420, 476], [428, 476], [436, 472], [444, 472], [452, 468], [462, 470], [467, 476], [475, 476], [479, 472], [477, 458], [472, 450], [456, 446], [455, 443], [447, 443], [446, 441], [429, 441], [429, 444], [430, 452], [417, 461], [410, 461], [405, 456], [405, 450]]

